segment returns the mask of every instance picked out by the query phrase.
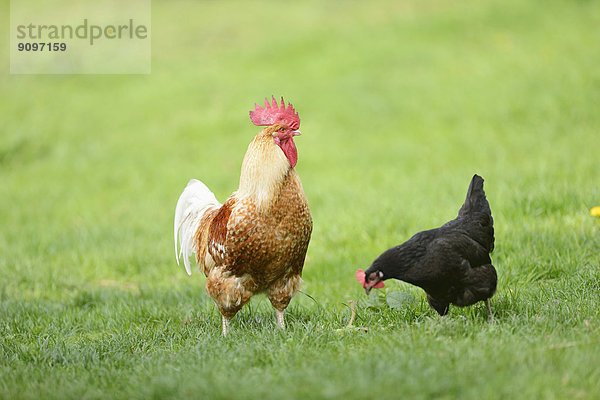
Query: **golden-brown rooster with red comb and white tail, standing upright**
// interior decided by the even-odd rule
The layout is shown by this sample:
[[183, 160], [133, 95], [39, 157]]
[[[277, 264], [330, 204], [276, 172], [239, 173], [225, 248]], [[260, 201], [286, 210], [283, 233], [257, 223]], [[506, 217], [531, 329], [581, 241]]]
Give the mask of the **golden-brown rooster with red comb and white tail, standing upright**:
[[[294, 107], [255, 105], [252, 123], [266, 126], [252, 140], [242, 162], [239, 188], [224, 204], [192, 179], [177, 201], [175, 255], [188, 275], [189, 257], [206, 276], [206, 291], [229, 322], [257, 293], [265, 293], [285, 329], [284, 310], [302, 285], [302, 268], [312, 218], [294, 167], [300, 117]], [[179, 246], [178, 246], [179, 241]]]

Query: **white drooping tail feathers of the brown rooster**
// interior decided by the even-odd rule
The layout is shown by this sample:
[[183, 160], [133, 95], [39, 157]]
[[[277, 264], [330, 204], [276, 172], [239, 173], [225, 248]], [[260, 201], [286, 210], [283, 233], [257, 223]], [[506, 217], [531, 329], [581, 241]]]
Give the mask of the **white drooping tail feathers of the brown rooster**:
[[[175, 258], [179, 265], [179, 256], [183, 258], [183, 264], [188, 275], [192, 274], [190, 267], [190, 256], [196, 252], [194, 236], [200, 225], [202, 216], [209, 210], [221, 207], [213, 192], [197, 179], [189, 181], [175, 208], [175, 222], [173, 224], [173, 236], [175, 239]], [[177, 239], [179, 236], [179, 248]]]

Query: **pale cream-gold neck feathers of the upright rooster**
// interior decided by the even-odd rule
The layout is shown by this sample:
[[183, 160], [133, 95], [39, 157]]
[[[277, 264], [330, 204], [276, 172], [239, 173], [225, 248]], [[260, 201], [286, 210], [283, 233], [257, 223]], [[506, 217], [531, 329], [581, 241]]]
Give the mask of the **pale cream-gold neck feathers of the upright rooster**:
[[290, 163], [270, 133], [256, 135], [248, 146], [242, 162], [240, 186], [235, 197], [252, 199], [261, 211], [266, 211], [277, 199], [284, 179], [290, 173]]

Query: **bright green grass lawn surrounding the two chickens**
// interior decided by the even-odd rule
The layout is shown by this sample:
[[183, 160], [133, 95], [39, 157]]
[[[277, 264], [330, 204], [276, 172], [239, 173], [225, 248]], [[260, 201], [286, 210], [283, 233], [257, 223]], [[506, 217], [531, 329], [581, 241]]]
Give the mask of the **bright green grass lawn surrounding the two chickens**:
[[[154, 1], [148, 76], [8, 75], [2, 39], [0, 398], [599, 398], [600, 7], [398, 3]], [[222, 338], [174, 207], [236, 189], [270, 94], [302, 118], [306, 286], [285, 332], [256, 297]], [[367, 300], [354, 271], [475, 172], [497, 323]]]

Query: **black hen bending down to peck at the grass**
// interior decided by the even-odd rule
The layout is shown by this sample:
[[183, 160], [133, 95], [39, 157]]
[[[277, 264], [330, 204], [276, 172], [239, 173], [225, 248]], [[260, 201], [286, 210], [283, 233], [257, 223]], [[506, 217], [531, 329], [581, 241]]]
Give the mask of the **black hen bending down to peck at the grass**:
[[494, 220], [483, 191], [483, 178], [474, 175], [458, 217], [437, 229], [419, 232], [381, 254], [365, 271], [367, 294], [390, 278], [419, 286], [429, 305], [446, 315], [450, 304], [465, 307], [485, 301], [496, 292]]

